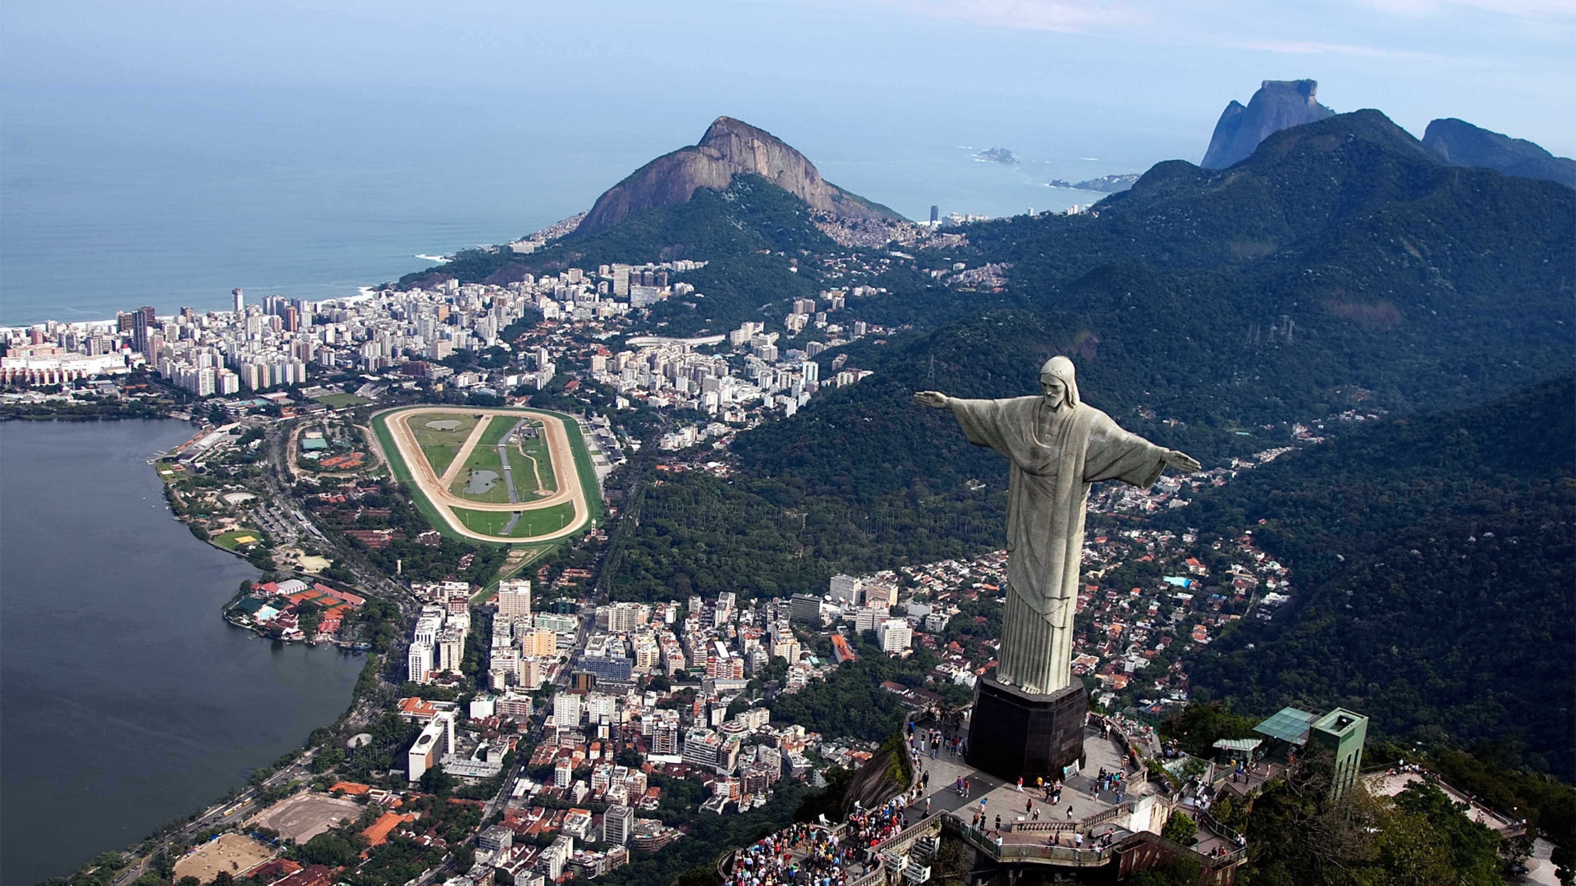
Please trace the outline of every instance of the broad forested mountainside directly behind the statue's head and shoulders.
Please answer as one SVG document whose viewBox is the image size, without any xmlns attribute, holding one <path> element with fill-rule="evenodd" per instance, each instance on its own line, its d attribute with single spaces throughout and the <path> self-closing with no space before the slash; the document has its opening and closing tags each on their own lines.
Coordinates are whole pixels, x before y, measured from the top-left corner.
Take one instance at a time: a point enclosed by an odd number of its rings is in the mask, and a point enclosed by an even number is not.
<svg viewBox="0 0 1576 886">
<path fill-rule="evenodd" d="M 741 435 L 731 482 L 646 487 L 613 586 L 788 593 L 998 547 L 1005 467 L 911 394 L 1034 393 L 1054 353 L 1092 405 L 1206 463 L 1294 421 L 1481 402 L 1568 370 L 1568 189 L 1442 167 L 1373 112 L 1288 132 L 1226 173 L 1162 164 L 1098 218 L 971 225 L 946 259 L 1013 262 L 1009 293 L 889 270 L 892 293 L 856 309 L 917 329 L 838 348 L 875 375 Z M 1220 246 L 1254 236 L 1272 248 Z M 1034 309 L 977 312 L 1001 304 Z"/>
</svg>

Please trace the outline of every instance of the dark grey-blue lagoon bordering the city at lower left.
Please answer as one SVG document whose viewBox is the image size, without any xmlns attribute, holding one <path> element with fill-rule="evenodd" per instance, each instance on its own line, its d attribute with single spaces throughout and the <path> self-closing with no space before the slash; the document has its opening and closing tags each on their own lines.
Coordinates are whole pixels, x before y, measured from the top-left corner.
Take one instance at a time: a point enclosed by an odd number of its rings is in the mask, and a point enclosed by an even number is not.
<svg viewBox="0 0 1576 886">
<path fill-rule="evenodd" d="M 366 659 L 219 616 L 246 561 L 147 459 L 177 421 L 0 424 L 0 881 L 36 883 L 246 784 L 334 720 Z"/>
</svg>

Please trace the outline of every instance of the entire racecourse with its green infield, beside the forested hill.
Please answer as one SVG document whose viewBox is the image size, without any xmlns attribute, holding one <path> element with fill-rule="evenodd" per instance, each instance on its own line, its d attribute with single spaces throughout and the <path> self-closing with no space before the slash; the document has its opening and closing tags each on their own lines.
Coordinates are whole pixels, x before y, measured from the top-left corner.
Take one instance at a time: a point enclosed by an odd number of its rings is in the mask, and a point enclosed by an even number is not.
<svg viewBox="0 0 1576 886">
<path fill-rule="evenodd" d="M 526 432 L 515 434 L 517 427 Z M 600 516 L 591 456 L 571 416 L 403 407 L 375 415 L 372 430 L 394 478 L 411 487 L 416 506 L 446 534 L 556 541 Z"/>
</svg>

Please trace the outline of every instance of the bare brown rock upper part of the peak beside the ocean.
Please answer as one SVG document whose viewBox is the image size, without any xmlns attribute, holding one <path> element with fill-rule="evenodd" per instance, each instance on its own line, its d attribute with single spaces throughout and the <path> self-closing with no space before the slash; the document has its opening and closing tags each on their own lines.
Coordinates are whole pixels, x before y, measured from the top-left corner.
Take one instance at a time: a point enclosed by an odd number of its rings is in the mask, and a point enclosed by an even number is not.
<svg viewBox="0 0 1576 886">
<path fill-rule="evenodd" d="M 687 203 L 697 188 L 723 191 L 739 173 L 760 175 L 810 207 L 840 218 L 900 218 L 826 181 L 815 164 L 771 132 L 719 117 L 698 145 L 662 154 L 597 197 L 575 235 L 600 233 L 656 207 Z"/>
</svg>

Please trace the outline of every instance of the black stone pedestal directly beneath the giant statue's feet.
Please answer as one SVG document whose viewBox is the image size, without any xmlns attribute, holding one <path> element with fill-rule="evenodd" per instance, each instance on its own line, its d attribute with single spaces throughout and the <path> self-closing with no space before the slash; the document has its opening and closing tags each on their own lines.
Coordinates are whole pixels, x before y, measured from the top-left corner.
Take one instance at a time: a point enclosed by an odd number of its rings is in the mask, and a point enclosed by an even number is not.
<svg viewBox="0 0 1576 886">
<path fill-rule="evenodd" d="M 1087 692 L 1076 679 L 1050 695 L 980 679 L 969 717 L 969 766 L 1009 782 L 1061 779 L 1065 766 L 1083 766 L 1087 709 Z"/>
</svg>

